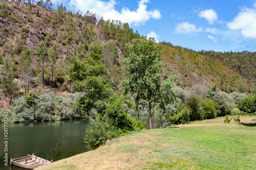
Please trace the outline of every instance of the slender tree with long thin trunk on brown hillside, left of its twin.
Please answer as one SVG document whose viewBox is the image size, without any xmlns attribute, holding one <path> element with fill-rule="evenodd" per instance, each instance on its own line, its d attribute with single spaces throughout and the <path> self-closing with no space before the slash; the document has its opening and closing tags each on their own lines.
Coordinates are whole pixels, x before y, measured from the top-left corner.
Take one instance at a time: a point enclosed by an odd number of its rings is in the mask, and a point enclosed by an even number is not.
<svg viewBox="0 0 256 170">
<path fill-rule="evenodd" d="M 47 46 L 45 42 L 41 42 L 39 47 L 36 48 L 37 52 L 35 54 L 36 61 L 39 65 L 42 66 L 42 85 L 45 85 L 45 77 L 44 77 L 44 65 L 45 62 L 48 61 L 48 53 Z"/>
</svg>

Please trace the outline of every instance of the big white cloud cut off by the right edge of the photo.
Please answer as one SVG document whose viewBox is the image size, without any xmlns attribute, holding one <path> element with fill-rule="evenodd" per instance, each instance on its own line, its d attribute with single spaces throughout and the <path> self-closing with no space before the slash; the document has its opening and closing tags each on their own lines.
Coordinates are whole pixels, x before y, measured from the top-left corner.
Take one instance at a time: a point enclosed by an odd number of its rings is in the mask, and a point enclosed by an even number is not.
<svg viewBox="0 0 256 170">
<path fill-rule="evenodd" d="M 231 22 L 227 23 L 230 30 L 240 30 L 245 38 L 256 38 L 256 3 L 253 8 L 241 8 Z"/>
</svg>

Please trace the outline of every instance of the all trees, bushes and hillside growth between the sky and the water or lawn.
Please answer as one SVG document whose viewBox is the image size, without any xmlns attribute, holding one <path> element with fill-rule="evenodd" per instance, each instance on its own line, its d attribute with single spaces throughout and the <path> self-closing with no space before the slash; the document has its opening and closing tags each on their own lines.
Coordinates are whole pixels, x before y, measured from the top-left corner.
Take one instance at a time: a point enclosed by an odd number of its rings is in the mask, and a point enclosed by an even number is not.
<svg viewBox="0 0 256 170">
<path fill-rule="evenodd" d="M 164 126 L 255 115 L 253 71 L 156 45 L 128 23 L 39 2 L 0 2 L 1 114 L 10 122 L 88 118 L 84 142 L 93 149 L 144 129 L 137 114 Z"/>
</svg>

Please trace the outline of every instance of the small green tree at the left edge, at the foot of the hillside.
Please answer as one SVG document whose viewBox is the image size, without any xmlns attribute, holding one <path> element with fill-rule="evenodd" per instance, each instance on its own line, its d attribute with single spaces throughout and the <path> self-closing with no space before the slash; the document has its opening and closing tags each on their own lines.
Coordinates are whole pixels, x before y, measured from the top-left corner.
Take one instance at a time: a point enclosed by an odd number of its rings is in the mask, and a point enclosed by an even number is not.
<svg viewBox="0 0 256 170">
<path fill-rule="evenodd" d="M 0 85 L 5 95 L 11 97 L 10 105 L 12 104 L 12 95 L 19 88 L 18 81 L 13 81 L 13 80 L 14 80 L 14 76 L 12 74 L 9 74 L 8 77 L 3 77 L 2 79 L 3 84 Z"/>
</svg>

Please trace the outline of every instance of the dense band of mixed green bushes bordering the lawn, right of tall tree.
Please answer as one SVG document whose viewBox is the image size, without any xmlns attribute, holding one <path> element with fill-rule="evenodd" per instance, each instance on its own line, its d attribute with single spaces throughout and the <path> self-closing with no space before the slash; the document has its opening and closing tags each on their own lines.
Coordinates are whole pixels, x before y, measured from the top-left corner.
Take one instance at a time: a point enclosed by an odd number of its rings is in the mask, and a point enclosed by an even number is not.
<svg viewBox="0 0 256 170">
<path fill-rule="evenodd" d="M 158 111 L 158 117 L 162 118 L 164 126 L 170 124 L 187 124 L 190 121 L 211 119 L 217 116 L 232 115 L 251 115 L 240 109 L 240 105 L 246 107 L 248 102 L 247 95 L 233 92 L 212 91 L 202 85 L 194 85 L 189 92 L 180 88 L 173 88 L 178 99 L 173 104 L 166 106 L 165 112 Z M 252 98 L 252 97 L 248 97 Z M 236 105 L 236 102 L 239 103 Z M 251 101 L 249 102 L 252 103 Z M 249 104 L 248 104 L 249 105 Z M 247 106 L 248 106 L 247 105 Z M 240 110 L 238 110 L 238 107 Z"/>
</svg>

